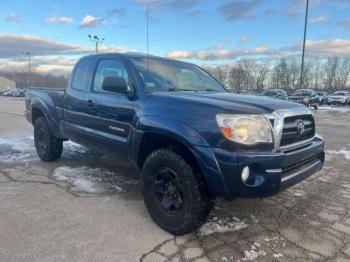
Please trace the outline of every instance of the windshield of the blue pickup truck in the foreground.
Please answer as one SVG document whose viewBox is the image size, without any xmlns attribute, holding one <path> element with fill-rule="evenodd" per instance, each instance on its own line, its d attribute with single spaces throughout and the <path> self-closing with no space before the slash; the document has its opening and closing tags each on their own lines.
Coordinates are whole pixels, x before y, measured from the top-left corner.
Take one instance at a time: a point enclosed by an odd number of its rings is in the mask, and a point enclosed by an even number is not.
<svg viewBox="0 0 350 262">
<path fill-rule="evenodd" d="M 199 67 L 156 58 L 131 58 L 147 90 L 225 91 L 207 72 Z"/>
</svg>

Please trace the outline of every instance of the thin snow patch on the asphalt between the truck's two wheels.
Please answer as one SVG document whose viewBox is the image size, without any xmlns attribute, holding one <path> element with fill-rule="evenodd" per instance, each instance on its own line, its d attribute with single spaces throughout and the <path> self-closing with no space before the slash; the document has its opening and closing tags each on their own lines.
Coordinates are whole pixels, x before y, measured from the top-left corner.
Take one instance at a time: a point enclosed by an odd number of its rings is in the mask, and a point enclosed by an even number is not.
<svg viewBox="0 0 350 262">
<path fill-rule="evenodd" d="M 95 194 L 121 192 L 124 185 L 139 183 L 138 180 L 126 179 L 116 172 L 87 166 L 61 166 L 55 169 L 52 176 L 58 181 L 71 184 L 73 192 Z"/>
</svg>

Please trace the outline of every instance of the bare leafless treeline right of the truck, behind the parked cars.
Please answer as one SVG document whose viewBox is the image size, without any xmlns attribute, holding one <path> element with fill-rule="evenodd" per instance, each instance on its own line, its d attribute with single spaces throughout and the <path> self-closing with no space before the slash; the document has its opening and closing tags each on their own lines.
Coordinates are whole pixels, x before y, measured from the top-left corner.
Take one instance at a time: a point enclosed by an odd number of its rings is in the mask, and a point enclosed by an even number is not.
<svg viewBox="0 0 350 262">
<path fill-rule="evenodd" d="M 242 58 L 232 64 L 205 67 L 228 89 L 300 88 L 301 59 L 291 56 L 279 60 Z M 301 88 L 346 90 L 349 88 L 350 58 L 306 58 Z"/>
</svg>

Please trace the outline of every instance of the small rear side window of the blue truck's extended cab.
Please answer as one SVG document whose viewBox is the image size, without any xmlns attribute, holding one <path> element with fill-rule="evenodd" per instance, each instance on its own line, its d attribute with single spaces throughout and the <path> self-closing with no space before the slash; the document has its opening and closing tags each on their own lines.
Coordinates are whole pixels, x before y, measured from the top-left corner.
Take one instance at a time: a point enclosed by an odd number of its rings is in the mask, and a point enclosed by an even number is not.
<svg viewBox="0 0 350 262">
<path fill-rule="evenodd" d="M 72 88 L 76 90 L 88 90 L 91 79 L 91 60 L 84 60 L 77 65 L 72 79 Z"/>
</svg>

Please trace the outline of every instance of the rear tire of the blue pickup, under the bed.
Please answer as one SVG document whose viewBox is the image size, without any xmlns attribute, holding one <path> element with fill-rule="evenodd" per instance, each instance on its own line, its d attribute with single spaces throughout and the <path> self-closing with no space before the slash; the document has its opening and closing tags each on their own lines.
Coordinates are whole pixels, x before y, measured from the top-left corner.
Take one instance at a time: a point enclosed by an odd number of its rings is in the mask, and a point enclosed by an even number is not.
<svg viewBox="0 0 350 262">
<path fill-rule="evenodd" d="M 62 155 L 63 141 L 52 135 L 44 117 L 34 122 L 34 143 L 39 158 L 45 162 L 56 161 Z"/>
</svg>

